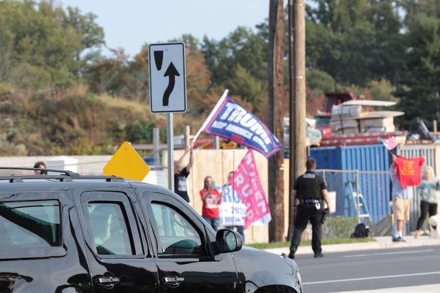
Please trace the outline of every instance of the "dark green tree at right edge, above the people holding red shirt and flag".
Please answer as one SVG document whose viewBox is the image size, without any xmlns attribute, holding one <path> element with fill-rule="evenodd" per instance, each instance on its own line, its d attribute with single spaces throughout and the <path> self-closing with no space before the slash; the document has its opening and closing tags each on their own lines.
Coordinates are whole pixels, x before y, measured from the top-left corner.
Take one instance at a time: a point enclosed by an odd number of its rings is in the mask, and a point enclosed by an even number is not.
<svg viewBox="0 0 440 293">
<path fill-rule="evenodd" d="M 407 127 L 421 117 L 430 127 L 440 118 L 440 20 L 425 13 L 407 16 L 405 63 L 395 92 L 401 98 L 398 108 L 405 112 L 400 122 Z"/>
</svg>

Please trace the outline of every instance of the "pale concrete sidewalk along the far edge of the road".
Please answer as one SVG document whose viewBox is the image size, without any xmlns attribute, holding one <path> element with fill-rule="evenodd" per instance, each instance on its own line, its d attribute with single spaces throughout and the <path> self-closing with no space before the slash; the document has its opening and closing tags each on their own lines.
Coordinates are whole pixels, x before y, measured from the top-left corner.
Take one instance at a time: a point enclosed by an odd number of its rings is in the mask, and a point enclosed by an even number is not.
<svg viewBox="0 0 440 293">
<path fill-rule="evenodd" d="M 374 237 L 376 241 L 373 242 L 361 242 L 361 243 L 347 243 L 347 244 L 330 244 L 323 245 L 323 253 L 328 252 L 344 252 L 344 251 L 357 251 L 357 250 L 369 250 L 369 249 L 385 249 L 385 248 L 407 248 L 407 247 L 421 247 L 440 245 L 440 239 L 431 239 L 429 236 L 420 236 L 418 239 L 414 238 L 414 235 L 406 235 L 404 237 L 406 242 L 393 242 L 391 236 Z M 282 248 L 268 248 L 265 251 L 281 254 L 289 254 L 288 247 Z M 298 247 L 295 255 L 299 254 L 313 254 L 311 246 Z"/>
</svg>

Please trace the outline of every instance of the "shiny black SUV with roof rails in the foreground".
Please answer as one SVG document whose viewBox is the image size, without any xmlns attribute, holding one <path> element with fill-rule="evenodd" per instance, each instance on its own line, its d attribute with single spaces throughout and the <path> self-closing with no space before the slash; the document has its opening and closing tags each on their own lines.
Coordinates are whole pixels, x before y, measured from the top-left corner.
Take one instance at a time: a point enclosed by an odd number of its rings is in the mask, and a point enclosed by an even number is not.
<svg viewBox="0 0 440 293">
<path fill-rule="evenodd" d="M 32 170 L 49 175 L 10 175 Z M 241 247 L 235 231 L 215 233 L 167 189 L 0 171 L 0 293 L 302 292 L 295 261 Z"/>
</svg>

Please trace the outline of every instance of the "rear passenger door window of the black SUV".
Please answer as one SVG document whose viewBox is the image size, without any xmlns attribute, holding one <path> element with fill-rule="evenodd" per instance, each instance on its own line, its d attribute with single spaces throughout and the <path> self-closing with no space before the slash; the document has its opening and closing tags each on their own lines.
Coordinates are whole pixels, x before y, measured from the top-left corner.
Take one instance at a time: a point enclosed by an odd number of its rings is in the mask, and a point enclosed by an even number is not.
<svg viewBox="0 0 440 293">
<path fill-rule="evenodd" d="M 89 202 L 88 211 L 98 254 L 133 254 L 127 220 L 119 204 Z"/>
</svg>

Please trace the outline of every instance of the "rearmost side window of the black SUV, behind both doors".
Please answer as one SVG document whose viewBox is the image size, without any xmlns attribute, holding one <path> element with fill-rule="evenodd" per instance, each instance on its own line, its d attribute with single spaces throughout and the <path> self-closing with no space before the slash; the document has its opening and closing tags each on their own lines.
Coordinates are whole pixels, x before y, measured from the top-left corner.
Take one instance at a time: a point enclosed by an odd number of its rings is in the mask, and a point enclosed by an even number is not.
<svg viewBox="0 0 440 293">
<path fill-rule="evenodd" d="M 60 204 L 56 200 L 0 204 L 0 248 L 61 246 Z"/>
</svg>

